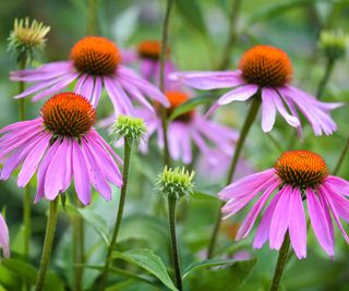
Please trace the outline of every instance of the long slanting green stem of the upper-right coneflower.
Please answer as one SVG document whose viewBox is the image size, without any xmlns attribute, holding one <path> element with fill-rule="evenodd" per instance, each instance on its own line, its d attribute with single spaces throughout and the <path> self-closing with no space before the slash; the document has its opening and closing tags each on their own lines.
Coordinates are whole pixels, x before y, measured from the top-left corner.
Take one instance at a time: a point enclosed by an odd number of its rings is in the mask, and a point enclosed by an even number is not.
<svg viewBox="0 0 349 291">
<path fill-rule="evenodd" d="M 226 185 L 231 183 L 231 180 L 234 174 L 244 141 L 248 136 L 248 133 L 249 133 L 252 124 L 253 124 L 253 121 L 255 120 L 255 118 L 257 116 L 260 106 L 261 106 L 261 93 L 258 92 L 255 96 L 252 97 L 252 105 L 250 107 L 250 111 L 246 116 L 246 119 L 245 119 L 243 126 L 242 126 L 242 130 L 240 132 L 240 137 L 237 143 L 233 157 L 231 159 L 230 168 L 228 170 Z M 224 203 L 220 204 L 219 209 L 218 209 L 216 222 L 215 222 L 214 230 L 213 230 L 210 241 L 208 244 L 207 258 L 210 258 L 213 256 L 214 251 L 215 251 L 215 245 L 216 245 L 217 235 L 218 235 L 218 231 L 219 231 L 219 227 L 220 227 L 220 220 L 221 220 L 220 208 L 222 205 L 224 205 Z"/>
</svg>

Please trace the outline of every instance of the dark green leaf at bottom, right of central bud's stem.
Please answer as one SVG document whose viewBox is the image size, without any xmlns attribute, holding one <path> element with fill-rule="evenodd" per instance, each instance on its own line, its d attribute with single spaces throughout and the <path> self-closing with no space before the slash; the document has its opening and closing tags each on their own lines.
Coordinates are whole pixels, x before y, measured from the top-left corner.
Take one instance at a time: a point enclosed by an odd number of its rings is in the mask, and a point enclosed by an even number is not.
<svg viewBox="0 0 349 291">
<path fill-rule="evenodd" d="M 256 259 L 224 260 L 196 263 L 186 268 L 185 278 L 190 281 L 192 290 L 227 291 L 234 290 L 241 284 L 253 269 Z M 221 266 L 208 269 L 209 266 Z"/>
</svg>

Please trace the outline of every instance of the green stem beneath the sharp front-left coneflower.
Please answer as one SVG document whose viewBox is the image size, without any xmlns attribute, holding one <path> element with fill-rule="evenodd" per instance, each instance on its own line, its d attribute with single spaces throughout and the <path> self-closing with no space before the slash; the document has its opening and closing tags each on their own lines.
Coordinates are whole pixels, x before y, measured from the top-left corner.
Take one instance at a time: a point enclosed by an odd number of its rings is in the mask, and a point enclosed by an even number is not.
<svg viewBox="0 0 349 291">
<path fill-rule="evenodd" d="M 46 225 L 46 233 L 45 233 L 45 242 L 44 242 L 41 262 L 40 262 L 40 267 L 39 267 L 39 271 L 37 275 L 35 291 L 44 290 L 46 271 L 48 268 L 48 264 L 49 264 L 51 251 L 52 251 L 53 237 L 55 237 L 56 225 L 57 225 L 57 217 L 58 217 L 58 198 L 50 202 L 50 209 L 49 209 L 47 225 Z"/>
</svg>

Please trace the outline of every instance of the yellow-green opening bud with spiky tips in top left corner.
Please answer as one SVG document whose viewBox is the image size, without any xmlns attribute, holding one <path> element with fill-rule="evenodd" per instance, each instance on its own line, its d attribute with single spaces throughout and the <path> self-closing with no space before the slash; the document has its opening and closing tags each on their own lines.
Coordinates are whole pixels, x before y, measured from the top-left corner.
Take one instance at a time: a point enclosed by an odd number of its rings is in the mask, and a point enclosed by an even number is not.
<svg viewBox="0 0 349 291">
<path fill-rule="evenodd" d="M 50 26 L 28 17 L 14 20 L 14 27 L 9 37 L 9 50 L 17 56 L 17 60 L 23 58 L 34 59 L 35 54 L 43 50 L 46 44 L 46 35 Z"/>
</svg>

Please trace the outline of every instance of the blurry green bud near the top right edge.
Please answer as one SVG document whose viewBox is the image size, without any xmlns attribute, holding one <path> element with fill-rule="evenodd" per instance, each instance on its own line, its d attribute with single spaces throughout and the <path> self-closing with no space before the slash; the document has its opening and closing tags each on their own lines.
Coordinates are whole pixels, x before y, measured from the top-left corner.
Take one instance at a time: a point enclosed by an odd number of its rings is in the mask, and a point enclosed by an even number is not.
<svg viewBox="0 0 349 291">
<path fill-rule="evenodd" d="M 348 39 L 348 35 L 341 31 L 323 31 L 320 47 L 326 58 L 336 61 L 346 56 Z"/>
</svg>

